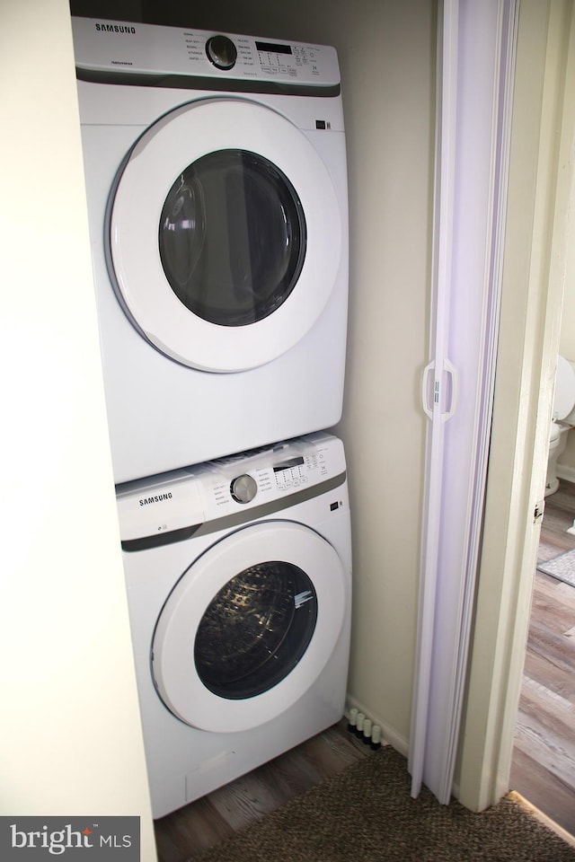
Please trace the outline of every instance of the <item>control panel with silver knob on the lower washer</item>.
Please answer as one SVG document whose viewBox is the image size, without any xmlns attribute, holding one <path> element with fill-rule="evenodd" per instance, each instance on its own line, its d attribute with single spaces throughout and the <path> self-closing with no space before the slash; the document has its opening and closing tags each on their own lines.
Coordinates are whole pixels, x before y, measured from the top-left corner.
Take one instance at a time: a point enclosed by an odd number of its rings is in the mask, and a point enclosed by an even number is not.
<svg viewBox="0 0 575 862">
<path fill-rule="evenodd" d="M 215 532 L 317 497 L 345 476 L 341 440 L 319 432 L 127 482 L 116 489 L 121 539 Z"/>
</svg>

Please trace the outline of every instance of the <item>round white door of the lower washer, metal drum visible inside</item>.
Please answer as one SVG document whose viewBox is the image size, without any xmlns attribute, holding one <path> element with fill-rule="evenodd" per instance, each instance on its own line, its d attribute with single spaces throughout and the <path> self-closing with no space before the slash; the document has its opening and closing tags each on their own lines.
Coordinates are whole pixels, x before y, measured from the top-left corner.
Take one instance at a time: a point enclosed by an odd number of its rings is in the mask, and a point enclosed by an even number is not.
<svg viewBox="0 0 575 862">
<path fill-rule="evenodd" d="M 272 521 L 229 534 L 164 604 L 152 647 L 160 697 L 203 730 L 270 721 L 322 673 L 346 594 L 341 559 L 308 527 Z"/>
</svg>

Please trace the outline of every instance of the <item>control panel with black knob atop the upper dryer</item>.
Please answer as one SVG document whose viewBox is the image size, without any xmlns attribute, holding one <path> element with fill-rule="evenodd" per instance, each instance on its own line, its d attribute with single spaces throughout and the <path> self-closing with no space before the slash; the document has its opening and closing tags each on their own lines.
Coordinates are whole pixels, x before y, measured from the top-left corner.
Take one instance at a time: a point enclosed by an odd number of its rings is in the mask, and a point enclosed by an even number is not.
<svg viewBox="0 0 575 862">
<path fill-rule="evenodd" d="M 121 75 L 190 75 L 332 87 L 335 48 L 234 33 L 72 18 L 78 69 Z"/>
</svg>

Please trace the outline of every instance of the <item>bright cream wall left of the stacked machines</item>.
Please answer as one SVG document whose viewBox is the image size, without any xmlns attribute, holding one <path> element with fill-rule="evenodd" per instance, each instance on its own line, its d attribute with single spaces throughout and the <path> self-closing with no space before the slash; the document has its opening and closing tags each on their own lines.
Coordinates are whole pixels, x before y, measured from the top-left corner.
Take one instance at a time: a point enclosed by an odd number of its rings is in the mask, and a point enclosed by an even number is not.
<svg viewBox="0 0 575 862">
<path fill-rule="evenodd" d="M 0 80 L 0 814 L 139 815 L 152 862 L 66 0 L 4 0 Z"/>
</svg>

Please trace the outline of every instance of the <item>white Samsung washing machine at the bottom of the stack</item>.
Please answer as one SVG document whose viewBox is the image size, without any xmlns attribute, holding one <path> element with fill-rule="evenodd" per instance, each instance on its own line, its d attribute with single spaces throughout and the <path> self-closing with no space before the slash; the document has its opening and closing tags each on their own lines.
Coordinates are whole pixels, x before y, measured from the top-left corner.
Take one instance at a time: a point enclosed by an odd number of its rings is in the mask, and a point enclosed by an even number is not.
<svg viewBox="0 0 575 862">
<path fill-rule="evenodd" d="M 351 550 L 341 441 L 118 488 L 155 818 L 337 722 Z"/>
</svg>

